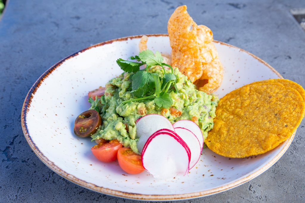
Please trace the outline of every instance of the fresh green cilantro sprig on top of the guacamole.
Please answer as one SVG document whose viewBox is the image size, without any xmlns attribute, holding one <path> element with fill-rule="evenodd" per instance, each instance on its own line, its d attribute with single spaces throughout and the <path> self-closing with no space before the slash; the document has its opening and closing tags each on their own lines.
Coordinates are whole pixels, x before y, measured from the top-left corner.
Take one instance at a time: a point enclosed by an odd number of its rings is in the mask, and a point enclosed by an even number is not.
<svg viewBox="0 0 305 203">
<path fill-rule="evenodd" d="M 146 49 L 136 56 L 129 57 L 130 60 L 117 59 L 117 64 L 122 70 L 127 73 L 135 73 L 131 77 L 131 92 L 138 98 L 126 100 L 128 102 L 154 100 L 158 107 L 168 109 L 173 100 L 169 94 L 170 87 L 177 91 L 177 77 L 174 74 L 173 68 L 163 63 L 163 57 L 160 52 L 154 54 L 151 50 Z M 140 67 L 146 65 L 146 68 L 140 70 Z M 157 73 L 149 73 L 148 69 L 152 66 L 161 66 L 164 71 L 163 78 L 160 78 Z M 166 73 L 164 66 L 171 69 L 171 73 Z M 144 95 L 147 95 L 145 96 Z"/>
</svg>

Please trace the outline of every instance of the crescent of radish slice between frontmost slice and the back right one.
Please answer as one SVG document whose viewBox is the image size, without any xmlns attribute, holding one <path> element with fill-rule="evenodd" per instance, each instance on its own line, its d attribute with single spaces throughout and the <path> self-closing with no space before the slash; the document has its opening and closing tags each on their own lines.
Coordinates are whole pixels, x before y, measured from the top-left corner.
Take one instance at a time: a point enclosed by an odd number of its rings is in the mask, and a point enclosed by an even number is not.
<svg viewBox="0 0 305 203">
<path fill-rule="evenodd" d="M 198 162 L 201 155 L 201 145 L 194 133 L 185 128 L 175 128 L 176 133 L 182 138 L 188 145 L 191 151 L 190 169 L 192 169 Z"/>
</svg>

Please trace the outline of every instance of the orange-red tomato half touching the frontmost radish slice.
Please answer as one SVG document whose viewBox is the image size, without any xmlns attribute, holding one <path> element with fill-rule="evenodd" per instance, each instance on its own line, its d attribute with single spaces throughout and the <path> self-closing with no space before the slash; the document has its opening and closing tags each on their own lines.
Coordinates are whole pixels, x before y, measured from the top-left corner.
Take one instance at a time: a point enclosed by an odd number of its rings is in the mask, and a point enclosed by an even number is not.
<svg viewBox="0 0 305 203">
<path fill-rule="evenodd" d="M 136 154 L 129 147 L 120 148 L 117 153 L 117 160 L 120 167 L 130 174 L 138 174 L 144 171 L 141 155 Z"/>
</svg>

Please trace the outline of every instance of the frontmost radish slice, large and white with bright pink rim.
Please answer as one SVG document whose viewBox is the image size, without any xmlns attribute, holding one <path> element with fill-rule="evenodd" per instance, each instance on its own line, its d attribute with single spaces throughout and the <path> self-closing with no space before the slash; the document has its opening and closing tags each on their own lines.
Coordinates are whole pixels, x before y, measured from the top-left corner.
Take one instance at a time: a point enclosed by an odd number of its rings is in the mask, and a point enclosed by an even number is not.
<svg viewBox="0 0 305 203">
<path fill-rule="evenodd" d="M 142 165 L 155 178 L 186 175 L 191 152 L 177 134 L 157 132 L 149 137 L 142 151 Z"/>
</svg>

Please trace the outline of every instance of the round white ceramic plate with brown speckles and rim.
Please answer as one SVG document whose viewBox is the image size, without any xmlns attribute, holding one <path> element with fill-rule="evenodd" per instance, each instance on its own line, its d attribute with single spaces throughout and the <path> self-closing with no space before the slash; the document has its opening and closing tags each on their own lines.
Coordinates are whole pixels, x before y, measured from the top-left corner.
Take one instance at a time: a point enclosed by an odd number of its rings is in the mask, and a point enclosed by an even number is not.
<svg viewBox="0 0 305 203">
<path fill-rule="evenodd" d="M 76 116 L 89 108 L 87 93 L 104 86 L 121 69 L 117 58 L 138 53 L 141 36 L 115 39 L 91 46 L 48 69 L 25 99 L 21 123 L 32 150 L 60 176 L 88 189 L 142 200 L 178 200 L 226 191 L 260 175 L 287 150 L 294 135 L 263 155 L 225 158 L 203 149 L 188 176 L 156 180 L 149 173 L 124 173 L 117 162 L 102 163 L 91 154 L 90 138 L 73 133 Z M 253 81 L 282 78 L 270 65 L 237 47 L 215 41 L 224 65 L 224 80 L 215 92 L 228 92 Z M 149 35 L 148 47 L 170 53 L 167 35 Z"/>
</svg>

